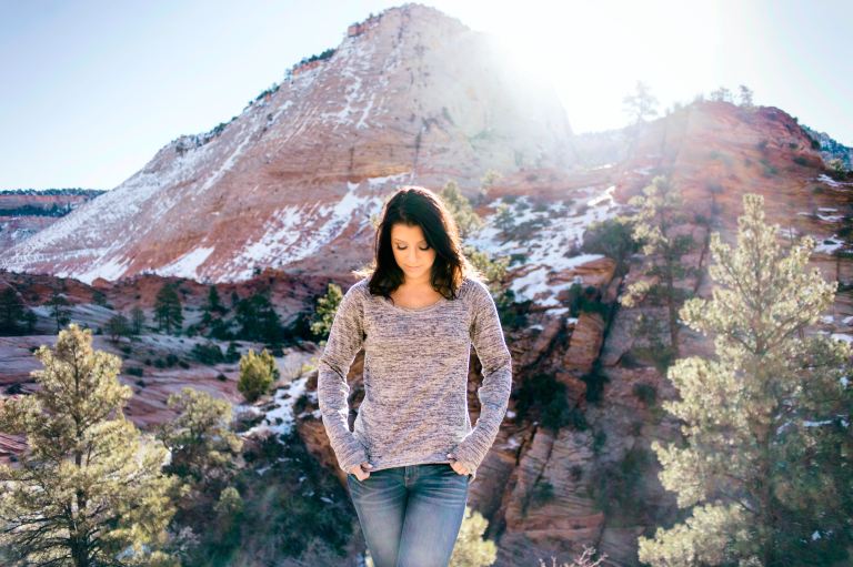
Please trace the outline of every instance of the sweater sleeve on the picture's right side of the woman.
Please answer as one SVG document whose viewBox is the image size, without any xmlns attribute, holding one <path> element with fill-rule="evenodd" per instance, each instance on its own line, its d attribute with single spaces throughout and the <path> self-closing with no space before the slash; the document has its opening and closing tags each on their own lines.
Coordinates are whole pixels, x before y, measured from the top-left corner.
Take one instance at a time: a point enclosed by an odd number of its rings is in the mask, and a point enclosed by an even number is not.
<svg viewBox="0 0 853 567">
<path fill-rule="evenodd" d="M 512 391 L 512 355 L 504 342 L 494 300 L 480 282 L 474 282 L 471 308 L 471 341 L 483 367 L 483 383 L 476 391 L 480 416 L 453 453 L 475 470 L 492 447 L 506 414 Z"/>
</svg>

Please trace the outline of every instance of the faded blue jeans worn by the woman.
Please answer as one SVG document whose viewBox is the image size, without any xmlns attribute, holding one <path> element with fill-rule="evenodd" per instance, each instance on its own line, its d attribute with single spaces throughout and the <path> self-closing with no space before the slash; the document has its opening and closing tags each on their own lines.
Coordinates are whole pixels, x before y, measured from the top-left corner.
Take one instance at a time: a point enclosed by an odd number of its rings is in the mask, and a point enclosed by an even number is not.
<svg viewBox="0 0 853 567">
<path fill-rule="evenodd" d="M 347 484 L 374 567 L 446 567 L 471 475 L 448 463 L 383 468 Z"/>
</svg>

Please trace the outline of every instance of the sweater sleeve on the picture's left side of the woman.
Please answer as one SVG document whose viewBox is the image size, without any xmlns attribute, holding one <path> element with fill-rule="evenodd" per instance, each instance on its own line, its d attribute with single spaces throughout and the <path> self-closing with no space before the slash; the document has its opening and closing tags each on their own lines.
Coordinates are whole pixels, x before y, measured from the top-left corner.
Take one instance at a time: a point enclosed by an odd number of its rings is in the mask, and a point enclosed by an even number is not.
<svg viewBox="0 0 853 567">
<path fill-rule="evenodd" d="M 347 374 L 362 347 L 362 303 L 359 290 L 351 286 L 334 314 L 329 340 L 318 363 L 317 399 L 323 426 L 338 458 L 347 473 L 368 460 L 364 446 L 350 432 Z"/>
</svg>

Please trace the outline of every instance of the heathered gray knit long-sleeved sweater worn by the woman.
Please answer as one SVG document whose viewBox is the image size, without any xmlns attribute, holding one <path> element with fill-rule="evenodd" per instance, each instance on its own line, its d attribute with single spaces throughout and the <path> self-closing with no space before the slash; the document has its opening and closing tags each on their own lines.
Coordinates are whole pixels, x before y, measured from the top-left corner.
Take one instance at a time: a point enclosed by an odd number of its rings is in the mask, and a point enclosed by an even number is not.
<svg viewBox="0 0 853 567">
<path fill-rule="evenodd" d="M 483 367 L 473 428 L 472 343 Z M 350 432 L 347 375 L 361 348 L 365 392 Z M 335 313 L 317 386 L 323 426 L 343 470 L 362 462 L 372 470 L 450 463 L 453 453 L 472 480 L 498 435 L 511 388 L 512 357 L 498 310 L 489 288 L 470 277 L 456 300 L 420 308 L 371 295 L 367 279 L 353 284 Z"/>
</svg>

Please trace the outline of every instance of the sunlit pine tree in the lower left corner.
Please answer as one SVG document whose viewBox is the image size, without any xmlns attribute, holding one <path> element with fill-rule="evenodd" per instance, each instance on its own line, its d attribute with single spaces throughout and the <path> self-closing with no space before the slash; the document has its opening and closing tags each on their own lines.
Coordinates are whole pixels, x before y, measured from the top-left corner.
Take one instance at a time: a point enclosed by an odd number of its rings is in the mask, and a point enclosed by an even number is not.
<svg viewBox="0 0 853 567">
<path fill-rule="evenodd" d="M 173 565 L 160 548 L 174 514 L 167 449 L 124 418 L 121 360 L 71 324 L 33 371 L 40 388 L 0 406 L 0 431 L 26 435 L 19 465 L 0 465 L 0 548 L 13 566 Z"/>
</svg>

